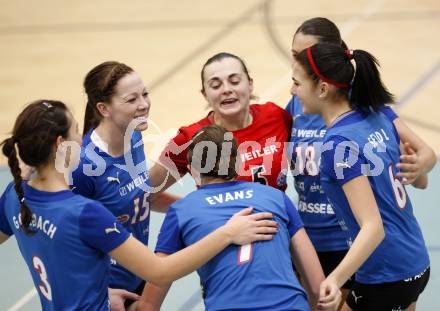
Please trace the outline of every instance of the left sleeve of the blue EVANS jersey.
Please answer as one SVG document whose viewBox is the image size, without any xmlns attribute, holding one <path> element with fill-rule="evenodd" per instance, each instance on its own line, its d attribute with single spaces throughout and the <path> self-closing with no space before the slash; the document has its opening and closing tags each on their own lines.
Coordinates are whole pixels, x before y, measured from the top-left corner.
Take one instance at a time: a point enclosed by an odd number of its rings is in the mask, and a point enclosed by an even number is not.
<svg viewBox="0 0 440 311">
<path fill-rule="evenodd" d="M 154 251 L 156 253 L 173 254 L 182 248 L 185 248 L 185 245 L 180 234 L 179 221 L 176 210 L 171 206 L 160 228 Z"/>
</svg>

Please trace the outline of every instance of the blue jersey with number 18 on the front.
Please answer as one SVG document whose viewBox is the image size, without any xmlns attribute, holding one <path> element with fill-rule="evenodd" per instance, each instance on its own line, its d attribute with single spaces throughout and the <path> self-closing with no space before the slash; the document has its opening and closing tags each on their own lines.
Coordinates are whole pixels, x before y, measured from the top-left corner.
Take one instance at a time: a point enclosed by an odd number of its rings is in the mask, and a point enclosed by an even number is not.
<svg viewBox="0 0 440 311">
<path fill-rule="evenodd" d="M 321 146 L 327 131 L 324 120 L 319 115 L 304 114 L 296 96 L 286 110 L 294 118 L 291 168 L 299 199 L 298 211 L 307 234 L 318 252 L 348 249 L 346 226 L 336 217 L 320 182 Z"/>
</svg>

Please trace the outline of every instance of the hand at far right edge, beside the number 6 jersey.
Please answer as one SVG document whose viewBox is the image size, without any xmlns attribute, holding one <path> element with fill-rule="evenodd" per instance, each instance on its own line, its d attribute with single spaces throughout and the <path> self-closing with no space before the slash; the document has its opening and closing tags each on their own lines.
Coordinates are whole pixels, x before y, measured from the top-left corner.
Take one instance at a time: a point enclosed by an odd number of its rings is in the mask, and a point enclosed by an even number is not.
<svg viewBox="0 0 440 311">
<path fill-rule="evenodd" d="M 404 185 L 412 184 L 422 173 L 420 158 L 409 143 L 403 144 L 400 162 L 396 167 L 400 170 L 397 174 Z"/>
</svg>

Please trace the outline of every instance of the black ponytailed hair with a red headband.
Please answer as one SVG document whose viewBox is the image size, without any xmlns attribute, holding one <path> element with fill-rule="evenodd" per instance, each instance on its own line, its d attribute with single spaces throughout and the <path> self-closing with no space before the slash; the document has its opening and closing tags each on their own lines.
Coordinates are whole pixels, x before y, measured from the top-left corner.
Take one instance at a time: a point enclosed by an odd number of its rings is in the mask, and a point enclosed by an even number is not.
<svg viewBox="0 0 440 311">
<path fill-rule="evenodd" d="M 394 103 L 393 94 L 380 78 L 377 60 L 368 52 L 351 52 L 340 45 L 318 43 L 301 51 L 295 59 L 316 83 L 321 80 L 336 86 L 354 110 L 369 113 L 371 109 Z M 356 62 L 356 71 L 352 59 Z"/>
</svg>

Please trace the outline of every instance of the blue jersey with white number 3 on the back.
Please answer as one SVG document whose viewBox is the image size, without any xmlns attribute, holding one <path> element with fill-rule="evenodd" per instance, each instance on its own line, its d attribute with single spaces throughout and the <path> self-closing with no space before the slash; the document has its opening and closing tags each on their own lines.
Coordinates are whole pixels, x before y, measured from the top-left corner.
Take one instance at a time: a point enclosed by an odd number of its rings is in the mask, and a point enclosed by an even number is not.
<svg viewBox="0 0 440 311">
<path fill-rule="evenodd" d="M 110 310 L 112 251 L 129 237 L 101 204 L 65 190 L 45 192 L 23 183 L 33 214 L 28 236 L 12 184 L 0 199 L 0 231 L 15 235 L 43 310 Z"/>
</svg>

